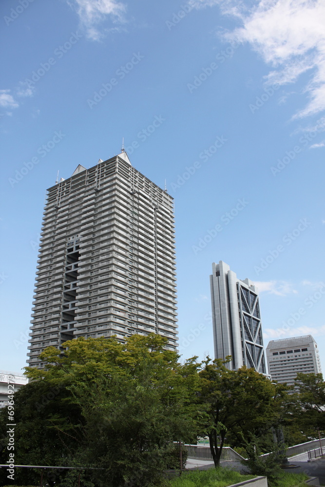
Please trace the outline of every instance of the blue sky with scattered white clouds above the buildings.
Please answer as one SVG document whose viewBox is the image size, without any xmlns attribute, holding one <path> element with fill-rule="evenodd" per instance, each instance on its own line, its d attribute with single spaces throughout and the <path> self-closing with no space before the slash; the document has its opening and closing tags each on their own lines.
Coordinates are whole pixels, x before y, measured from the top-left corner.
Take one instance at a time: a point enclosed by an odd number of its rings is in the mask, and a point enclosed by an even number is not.
<svg viewBox="0 0 325 487">
<path fill-rule="evenodd" d="M 325 367 L 324 19 L 322 0 L 2 0 L 0 369 L 25 366 L 46 188 L 123 137 L 175 198 L 183 357 L 213 355 L 223 260 L 258 282 L 265 346 L 311 334 Z"/>
</svg>

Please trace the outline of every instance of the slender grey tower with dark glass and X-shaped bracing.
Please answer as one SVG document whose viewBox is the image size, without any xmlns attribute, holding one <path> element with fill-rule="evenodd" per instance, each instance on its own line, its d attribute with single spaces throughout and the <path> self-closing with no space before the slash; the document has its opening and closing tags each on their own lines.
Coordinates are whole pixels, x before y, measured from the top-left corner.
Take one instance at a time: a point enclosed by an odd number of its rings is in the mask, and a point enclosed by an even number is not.
<svg viewBox="0 0 325 487">
<path fill-rule="evenodd" d="M 228 367 L 243 365 L 267 375 L 258 290 L 240 281 L 229 265 L 212 263 L 210 276 L 215 358 L 232 359 Z"/>
</svg>

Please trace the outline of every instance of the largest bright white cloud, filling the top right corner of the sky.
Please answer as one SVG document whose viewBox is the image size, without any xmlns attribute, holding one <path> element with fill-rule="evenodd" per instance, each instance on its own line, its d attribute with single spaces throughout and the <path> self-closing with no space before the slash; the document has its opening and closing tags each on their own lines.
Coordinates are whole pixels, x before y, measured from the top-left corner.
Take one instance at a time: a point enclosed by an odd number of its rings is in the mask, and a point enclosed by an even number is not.
<svg viewBox="0 0 325 487">
<path fill-rule="evenodd" d="M 309 101 L 294 115 L 303 118 L 325 110 L 324 0 L 192 0 L 196 8 L 220 5 L 223 14 L 242 22 L 225 37 L 249 42 L 274 69 L 267 83 L 294 83 L 310 71 L 305 87 Z"/>
</svg>

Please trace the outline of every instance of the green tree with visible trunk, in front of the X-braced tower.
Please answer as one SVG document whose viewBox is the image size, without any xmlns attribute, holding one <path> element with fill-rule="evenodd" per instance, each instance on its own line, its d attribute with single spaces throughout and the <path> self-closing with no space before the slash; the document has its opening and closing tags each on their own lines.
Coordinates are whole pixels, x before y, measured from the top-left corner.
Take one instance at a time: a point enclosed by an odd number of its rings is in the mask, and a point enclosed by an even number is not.
<svg viewBox="0 0 325 487">
<path fill-rule="evenodd" d="M 205 432 L 216 467 L 226 437 L 231 446 L 245 446 L 278 424 L 286 394 L 285 387 L 254 369 L 229 370 L 228 362 L 229 357 L 213 361 L 207 357 L 199 373 L 201 400 L 209 412 Z"/>
</svg>

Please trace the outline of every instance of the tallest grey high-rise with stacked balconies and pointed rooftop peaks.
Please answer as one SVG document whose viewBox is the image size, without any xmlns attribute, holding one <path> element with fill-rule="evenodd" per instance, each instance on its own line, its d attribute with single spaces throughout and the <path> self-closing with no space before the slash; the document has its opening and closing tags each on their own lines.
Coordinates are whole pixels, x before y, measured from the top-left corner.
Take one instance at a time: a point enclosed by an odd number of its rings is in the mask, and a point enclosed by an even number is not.
<svg viewBox="0 0 325 487">
<path fill-rule="evenodd" d="M 48 189 L 29 365 L 77 337 L 151 332 L 177 347 L 173 198 L 122 152 Z"/>
</svg>

